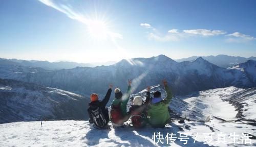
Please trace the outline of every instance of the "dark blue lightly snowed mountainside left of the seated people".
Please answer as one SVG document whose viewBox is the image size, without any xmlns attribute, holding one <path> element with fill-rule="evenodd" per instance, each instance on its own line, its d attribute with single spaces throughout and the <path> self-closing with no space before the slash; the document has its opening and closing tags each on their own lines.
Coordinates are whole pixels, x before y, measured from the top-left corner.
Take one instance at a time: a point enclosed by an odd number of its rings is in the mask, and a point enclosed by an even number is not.
<svg viewBox="0 0 256 147">
<path fill-rule="evenodd" d="M 86 120 L 89 100 L 45 86 L 0 79 L 0 124 L 40 119 Z M 1 145 L 0 145 L 1 146 Z"/>
</svg>

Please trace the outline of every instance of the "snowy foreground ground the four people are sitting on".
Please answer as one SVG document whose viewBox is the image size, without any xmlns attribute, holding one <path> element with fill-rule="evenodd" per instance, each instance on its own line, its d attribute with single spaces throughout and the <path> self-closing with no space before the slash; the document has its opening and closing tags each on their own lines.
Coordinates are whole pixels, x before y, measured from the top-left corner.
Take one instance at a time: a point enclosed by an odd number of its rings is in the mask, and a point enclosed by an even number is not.
<svg viewBox="0 0 256 147">
<path fill-rule="evenodd" d="M 215 132 L 212 132 L 209 127 L 214 127 Z M 153 129 L 147 126 L 140 130 L 135 130 L 131 126 L 124 128 L 110 126 L 109 129 L 98 130 L 88 121 L 75 120 L 43 121 L 42 127 L 40 121 L 12 122 L 0 125 L 0 146 L 169 146 L 165 139 L 162 140 L 164 144 L 154 142 L 153 135 L 157 132 L 160 132 L 163 138 L 167 133 L 174 133 L 177 137 L 179 133 L 185 133 L 189 137 L 188 144 L 183 144 L 184 142 L 176 138 L 172 146 L 234 146 L 222 143 L 217 145 L 216 135 L 220 132 L 228 135 L 236 132 L 242 136 L 241 133 L 252 132 L 251 129 L 250 125 L 242 122 L 204 124 L 185 121 L 185 124 L 179 124 L 174 121 L 164 129 Z M 204 144 L 203 133 L 214 133 L 212 144 Z M 230 142 L 228 135 L 226 135 L 226 141 Z M 193 143 L 195 139 L 196 142 Z M 237 142 L 240 142 L 239 146 L 256 145 L 255 140 L 252 140 L 252 144 L 241 144 L 242 138 L 239 138 Z"/>
</svg>

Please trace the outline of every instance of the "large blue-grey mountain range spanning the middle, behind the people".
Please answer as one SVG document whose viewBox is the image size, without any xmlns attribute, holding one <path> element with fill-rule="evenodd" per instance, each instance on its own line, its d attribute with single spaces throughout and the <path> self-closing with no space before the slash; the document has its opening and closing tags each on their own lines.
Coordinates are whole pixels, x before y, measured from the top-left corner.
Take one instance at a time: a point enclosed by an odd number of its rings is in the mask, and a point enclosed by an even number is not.
<svg viewBox="0 0 256 147">
<path fill-rule="evenodd" d="M 256 61 L 248 62 L 255 63 Z M 179 63 L 160 55 L 151 58 L 122 60 L 110 66 L 19 73 L 22 76 L 18 74 L 15 76 L 15 73 L 8 70 L 4 75 L 0 75 L 0 78 L 22 80 L 84 95 L 89 95 L 92 92 L 104 94 L 105 87 L 109 83 L 126 89 L 127 79 L 134 79 L 133 87 L 135 87 L 135 92 L 138 92 L 146 85 L 156 85 L 165 78 L 169 81 L 175 94 L 185 95 L 194 91 L 228 86 L 253 87 L 256 83 L 251 77 L 255 75 L 256 67 L 251 65 L 248 64 L 244 67 L 245 70 L 226 69 L 211 64 L 203 58 Z M 252 72 L 245 72 L 249 68 Z M 1 70 L 3 69 L 0 68 Z"/>
</svg>

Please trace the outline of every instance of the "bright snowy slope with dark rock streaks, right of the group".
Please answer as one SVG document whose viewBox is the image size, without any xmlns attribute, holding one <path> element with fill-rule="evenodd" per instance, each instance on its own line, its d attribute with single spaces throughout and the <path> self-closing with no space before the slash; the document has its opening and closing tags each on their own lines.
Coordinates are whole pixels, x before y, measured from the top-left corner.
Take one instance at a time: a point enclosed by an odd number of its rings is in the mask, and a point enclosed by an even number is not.
<svg viewBox="0 0 256 147">
<path fill-rule="evenodd" d="M 181 113 L 184 118 L 206 120 L 215 116 L 224 120 L 254 119 L 256 122 L 256 88 L 231 86 L 199 91 L 178 98 L 187 103 L 186 108 L 189 111 Z M 195 112 L 200 112 L 200 115 Z"/>
</svg>

